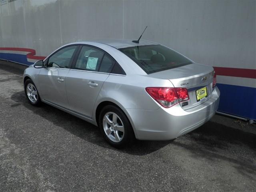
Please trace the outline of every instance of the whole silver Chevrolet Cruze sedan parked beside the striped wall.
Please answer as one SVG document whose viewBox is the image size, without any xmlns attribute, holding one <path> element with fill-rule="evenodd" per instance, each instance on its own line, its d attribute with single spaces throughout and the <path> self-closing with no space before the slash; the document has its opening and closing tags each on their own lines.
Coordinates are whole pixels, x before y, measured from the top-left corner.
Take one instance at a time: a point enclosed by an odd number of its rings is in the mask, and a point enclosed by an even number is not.
<svg viewBox="0 0 256 192">
<path fill-rule="evenodd" d="M 116 147 L 186 134 L 214 115 L 220 97 L 212 67 L 142 40 L 67 44 L 23 78 L 32 105 L 82 118 Z"/>
</svg>

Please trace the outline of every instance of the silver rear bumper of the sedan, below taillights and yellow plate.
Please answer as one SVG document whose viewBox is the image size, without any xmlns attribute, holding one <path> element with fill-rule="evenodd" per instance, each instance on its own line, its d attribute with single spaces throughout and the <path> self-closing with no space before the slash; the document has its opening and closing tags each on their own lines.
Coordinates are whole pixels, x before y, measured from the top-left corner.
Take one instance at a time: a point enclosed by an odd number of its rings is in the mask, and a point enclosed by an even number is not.
<svg viewBox="0 0 256 192">
<path fill-rule="evenodd" d="M 171 140 L 210 120 L 218 109 L 220 91 L 216 87 L 206 102 L 183 110 L 180 105 L 158 110 L 128 109 L 134 133 L 139 140 Z"/>
</svg>

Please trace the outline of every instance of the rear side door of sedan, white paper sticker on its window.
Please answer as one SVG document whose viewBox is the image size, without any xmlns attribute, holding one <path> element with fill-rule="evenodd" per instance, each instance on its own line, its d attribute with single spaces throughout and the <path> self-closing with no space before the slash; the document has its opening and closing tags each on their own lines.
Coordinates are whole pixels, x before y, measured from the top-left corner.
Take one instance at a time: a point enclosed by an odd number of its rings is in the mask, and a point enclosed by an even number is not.
<svg viewBox="0 0 256 192">
<path fill-rule="evenodd" d="M 93 46 L 82 46 L 72 69 L 66 77 L 70 110 L 92 117 L 94 104 L 115 61 Z"/>
</svg>

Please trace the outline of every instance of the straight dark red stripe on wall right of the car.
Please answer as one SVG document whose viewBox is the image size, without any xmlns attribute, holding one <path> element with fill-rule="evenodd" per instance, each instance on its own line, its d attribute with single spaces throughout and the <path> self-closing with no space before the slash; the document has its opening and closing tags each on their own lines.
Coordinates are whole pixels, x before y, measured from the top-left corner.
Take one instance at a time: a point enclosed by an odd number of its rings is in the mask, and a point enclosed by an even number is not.
<svg viewBox="0 0 256 192">
<path fill-rule="evenodd" d="M 256 79 L 256 69 L 213 67 L 217 75 Z"/>
</svg>

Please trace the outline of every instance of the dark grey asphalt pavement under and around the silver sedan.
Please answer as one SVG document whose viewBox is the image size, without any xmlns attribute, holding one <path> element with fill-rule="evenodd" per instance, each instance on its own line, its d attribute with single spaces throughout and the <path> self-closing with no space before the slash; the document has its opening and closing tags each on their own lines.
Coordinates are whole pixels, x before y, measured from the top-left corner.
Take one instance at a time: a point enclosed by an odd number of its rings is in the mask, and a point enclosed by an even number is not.
<svg viewBox="0 0 256 192">
<path fill-rule="evenodd" d="M 0 192 L 255 192 L 256 125 L 215 115 L 171 141 L 118 150 L 100 130 L 25 98 L 24 66 L 0 61 Z"/>
</svg>

